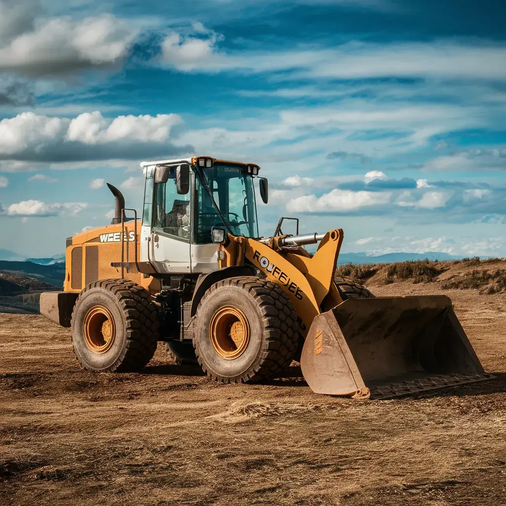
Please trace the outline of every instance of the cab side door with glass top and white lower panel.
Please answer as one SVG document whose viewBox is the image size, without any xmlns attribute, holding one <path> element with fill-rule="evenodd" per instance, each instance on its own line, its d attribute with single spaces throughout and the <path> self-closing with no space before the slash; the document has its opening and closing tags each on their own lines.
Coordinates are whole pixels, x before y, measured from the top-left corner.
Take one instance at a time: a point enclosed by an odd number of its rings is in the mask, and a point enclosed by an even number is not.
<svg viewBox="0 0 506 506">
<path fill-rule="evenodd" d="M 153 225 L 149 241 L 150 260 L 158 272 L 191 272 L 190 224 L 191 192 L 179 195 L 176 167 L 171 167 L 166 183 L 156 183 Z"/>
</svg>

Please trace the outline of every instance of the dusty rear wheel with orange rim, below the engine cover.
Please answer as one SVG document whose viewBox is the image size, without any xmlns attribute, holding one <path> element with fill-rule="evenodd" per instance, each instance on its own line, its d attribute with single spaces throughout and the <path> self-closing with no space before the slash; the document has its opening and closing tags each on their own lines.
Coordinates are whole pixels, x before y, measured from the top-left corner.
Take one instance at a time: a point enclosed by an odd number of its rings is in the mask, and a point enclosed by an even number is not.
<svg viewBox="0 0 506 506">
<path fill-rule="evenodd" d="M 126 279 L 84 288 L 72 312 L 72 345 L 79 365 L 97 372 L 137 371 L 153 358 L 158 315 L 147 290 Z"/>
</svg>

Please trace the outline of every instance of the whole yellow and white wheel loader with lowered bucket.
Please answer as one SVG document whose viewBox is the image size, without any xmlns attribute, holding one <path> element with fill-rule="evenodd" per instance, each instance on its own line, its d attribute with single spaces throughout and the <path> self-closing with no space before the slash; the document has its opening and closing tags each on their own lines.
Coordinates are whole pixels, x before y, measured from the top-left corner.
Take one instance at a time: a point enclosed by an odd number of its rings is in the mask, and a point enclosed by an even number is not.
<svg viewBox="0 0 506 506">
<path fill-rule="evenodd" d="M 197 156 L 141 164 L 142 217 L 112 185 L 110 225 L 69 237 L 63 291 L 80 366 L 146 366 L 159 341 L 212 379 L 265 382 L 300 361 L 316 393 L 385 399 L 489 377 L 445 296 L 375 298 L 335 279 L 343 230 L 260 236 L 260 167 Z M 127 218 L 127 214 L 130 218 Z M 293 220 L 293 219 L 292 219 Z M 317 248 L 310 254 L 305 246 Z"/>
</svg>

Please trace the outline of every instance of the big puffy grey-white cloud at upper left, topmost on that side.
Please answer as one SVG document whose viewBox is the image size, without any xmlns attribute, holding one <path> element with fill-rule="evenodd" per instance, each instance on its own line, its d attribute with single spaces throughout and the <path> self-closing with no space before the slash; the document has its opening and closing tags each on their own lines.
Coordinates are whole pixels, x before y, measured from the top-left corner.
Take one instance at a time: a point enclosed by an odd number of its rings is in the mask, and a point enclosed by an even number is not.
<svg viewBox="0 0 506 506">
<path fill-rule="evenodd" d="M 128 55 L 138 34 L 112 14 L 80 21 L 32 19 L 31 24 L 32 29 L 4 38 L 0 71 L 33 76 L 111 66 Z"/>
</svg>

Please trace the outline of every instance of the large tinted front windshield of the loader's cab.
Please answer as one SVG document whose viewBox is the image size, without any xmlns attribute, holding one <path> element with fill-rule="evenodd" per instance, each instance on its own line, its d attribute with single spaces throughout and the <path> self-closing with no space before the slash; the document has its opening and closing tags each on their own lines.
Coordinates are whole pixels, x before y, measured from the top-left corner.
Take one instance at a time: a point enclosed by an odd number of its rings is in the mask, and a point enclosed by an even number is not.
<svg viewBox="0 0 506 506">
<path fill-rule="evenodd" d="M 213 198 L 234 235 L 258 237 L 255 191 L 251 176 L 243 168 L 231 164 L 215 164 L 202 170 Z M 220 215 L 204 185 L 196 178 L 196 227 L 195 242 L 213 242 L 211 229 L 223 227 Z"/>
</svg>

